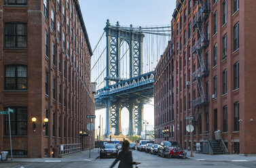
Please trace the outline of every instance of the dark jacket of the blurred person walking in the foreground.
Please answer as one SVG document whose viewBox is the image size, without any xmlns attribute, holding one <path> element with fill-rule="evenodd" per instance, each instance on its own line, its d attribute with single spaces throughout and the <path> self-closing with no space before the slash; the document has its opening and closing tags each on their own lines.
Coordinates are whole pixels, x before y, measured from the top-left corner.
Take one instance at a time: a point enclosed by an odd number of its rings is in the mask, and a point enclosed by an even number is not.
<svg viewBox="0 0 256 168">
<path fill-rule="evenodd" d="M 132 165 L 135 165 L 135 162 L 132 162 L 132 151 L 121 151 L 119 152 L 117 159 L 112 163 L 111 168 L 120 161 L 118 168 L 132 168 Z"/>
</svg>

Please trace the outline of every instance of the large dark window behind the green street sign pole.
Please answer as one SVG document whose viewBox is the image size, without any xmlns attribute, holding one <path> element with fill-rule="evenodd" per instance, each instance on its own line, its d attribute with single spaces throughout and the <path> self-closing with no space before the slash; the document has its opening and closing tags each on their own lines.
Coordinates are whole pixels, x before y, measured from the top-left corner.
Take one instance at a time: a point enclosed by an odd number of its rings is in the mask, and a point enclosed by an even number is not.
<svg viewBox="0 0 256 168">
<path fill-rule="evenodd" d="M 6 107 L 12 108 L 14 112 L 10 112 L 10 124 L 12 127 L 12 135 L 27 135 L 27 108 L 26 107 Z M 10 135 L 8 115 L 5 115 L 5 135 Z"/>
</svg>

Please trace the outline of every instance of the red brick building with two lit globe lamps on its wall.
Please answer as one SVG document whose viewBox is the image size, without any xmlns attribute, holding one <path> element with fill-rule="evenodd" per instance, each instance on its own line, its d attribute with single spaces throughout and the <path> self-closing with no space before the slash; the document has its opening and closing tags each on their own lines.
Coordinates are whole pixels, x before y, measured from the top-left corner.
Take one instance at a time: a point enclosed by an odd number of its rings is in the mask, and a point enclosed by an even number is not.
<svg viewBox="0 0 256 168">
<path fill-rule="evenodd" d="M 88 148 L 79 132 L 88 132 L 86 115 L 94 114 L 92 49 L 79 1 L 0 4 L 0 110 L 14 109 L 14 156 L 56 157 L 60 144 Z M 7 119 L 0 116 L 0 151 L 10 151 Z"/>
</svg>

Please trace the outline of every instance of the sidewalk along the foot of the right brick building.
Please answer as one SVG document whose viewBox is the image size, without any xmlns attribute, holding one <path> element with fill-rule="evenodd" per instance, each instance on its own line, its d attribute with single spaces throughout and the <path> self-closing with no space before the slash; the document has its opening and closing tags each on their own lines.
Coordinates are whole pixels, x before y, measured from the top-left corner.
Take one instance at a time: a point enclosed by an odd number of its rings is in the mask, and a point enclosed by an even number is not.
<svg viewBox="0 0 256 168">
<path fill-rule="evenodd" d="M 198 154 L 193 152 L 193 156 L 190 156 L 190 150 L 187 151 L 187 159 L 194 161 L 223 161 L 223 162 L 244 162 L 244 161 L 256 161 L 256 155 L 244 156 L 244 154 Z"/>
</svg>

